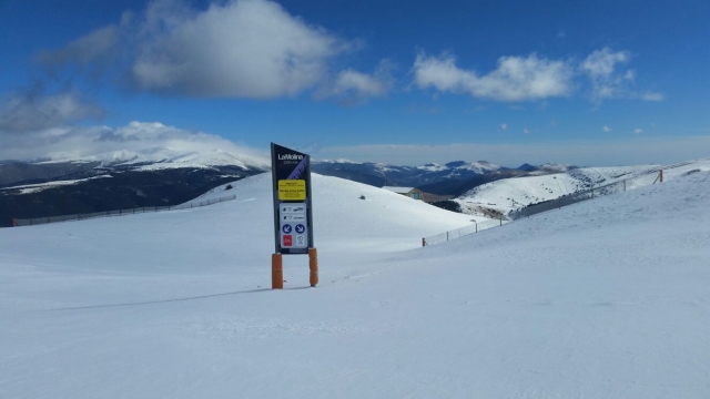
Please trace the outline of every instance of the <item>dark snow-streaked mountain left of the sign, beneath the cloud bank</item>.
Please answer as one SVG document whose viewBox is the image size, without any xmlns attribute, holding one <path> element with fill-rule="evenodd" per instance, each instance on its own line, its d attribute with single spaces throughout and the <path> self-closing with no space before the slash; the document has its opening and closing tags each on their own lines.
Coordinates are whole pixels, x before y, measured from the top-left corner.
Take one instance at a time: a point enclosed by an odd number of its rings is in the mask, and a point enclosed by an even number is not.
<svg viewBox="0 0 710 399">
<path fill-rule="evenodd" d="M 224 154 L 221 154 L 224 155 Z M 169 206 L 263 173 L 239 160 L 64 160 L 0 163 L 0 227 L 12 218 Z"/>
</svg>

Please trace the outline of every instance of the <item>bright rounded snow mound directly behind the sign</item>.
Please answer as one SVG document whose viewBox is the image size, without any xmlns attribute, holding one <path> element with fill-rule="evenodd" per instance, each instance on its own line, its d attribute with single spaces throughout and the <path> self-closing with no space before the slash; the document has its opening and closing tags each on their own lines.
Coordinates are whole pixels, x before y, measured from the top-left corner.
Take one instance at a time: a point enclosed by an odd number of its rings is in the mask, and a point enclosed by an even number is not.
<svg viewBox="0 0 710 399">
<path fill-rule="evenodd" d="M 243 209 L 251 217 L 258 213 L 254 224 L 270 222 L 265 236 L 273 233 L 273 194 L 271 173 L 247 177 L 225 190 L 222 185 L 203 196 L 200 201 L 217 200 L 225 195 L 236 195 L 237 203 L 244 203 L 252 209 Z M 444 211 L 420 201 L 387 192 L 366 184 L 343 178 L 313 174 L 314 184 L 314 225 L 316 247 L 321 239 L 333 237 L 337 245 L 354 247 L 364 245 L 372 250 L 396 250 L 414 248 L 420 245 L 422 237 L 438 234 L 447 229 L 470 225 L 470 216 Z M 365 200 L 359 200 L 365 196 Z M 264 206 L 268 204 L 268 206 Z M 272 239 L 273 241 L 273 239 Z M 273 246 L 273 243 L 270 242 Z M 336 245 L 334 243 L 328 246 Z"/>
</svg>

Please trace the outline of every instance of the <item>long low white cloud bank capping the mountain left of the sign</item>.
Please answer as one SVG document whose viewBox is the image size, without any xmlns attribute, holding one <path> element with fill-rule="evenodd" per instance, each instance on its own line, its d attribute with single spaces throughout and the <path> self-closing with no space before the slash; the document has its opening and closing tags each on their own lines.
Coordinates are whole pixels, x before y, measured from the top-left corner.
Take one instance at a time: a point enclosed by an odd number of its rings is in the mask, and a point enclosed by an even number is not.
<svg viewBox="0 0 710 399">
<path fill-rule="evenodd" d="M 0 160 L 37 158 L 143 161 L 229 160 L 268 167 L 268 155 L 216 135 L 162 123 L 131 122 L 121 127 L 52 127 L 2 136 Z"/>
</svg>

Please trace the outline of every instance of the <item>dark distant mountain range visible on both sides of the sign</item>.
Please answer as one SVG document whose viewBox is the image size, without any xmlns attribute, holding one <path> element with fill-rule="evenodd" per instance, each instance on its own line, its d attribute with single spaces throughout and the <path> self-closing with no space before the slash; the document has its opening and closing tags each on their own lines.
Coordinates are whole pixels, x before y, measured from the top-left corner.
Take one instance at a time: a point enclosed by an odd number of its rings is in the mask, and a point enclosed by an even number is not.
<svg viewBox="0 0 710 399">
<path fill-rule="evenodd" d="M 149 149 L 80 158 L 0 162 L 0 226 L 12 218 L 169 206 L 209 190 L 268 171 L 270 161 L 234 152 L 176 152 Z M 312 171 L 373 186 L 416 186 L 438 195 L 457 196 L 476 186 L 507 177 L 547 174 L 568 165 L 524 164 L 509 168 L 486 161 L 455 161 L 423 166 L 313 161 Z"/>
</svg>

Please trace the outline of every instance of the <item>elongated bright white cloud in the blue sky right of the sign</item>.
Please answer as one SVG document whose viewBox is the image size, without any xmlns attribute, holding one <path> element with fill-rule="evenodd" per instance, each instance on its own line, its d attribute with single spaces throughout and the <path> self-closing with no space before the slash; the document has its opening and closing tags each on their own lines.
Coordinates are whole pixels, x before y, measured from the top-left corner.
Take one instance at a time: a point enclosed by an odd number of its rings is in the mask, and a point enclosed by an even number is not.
<svg viewBox="0 0 710 399">
<path fill-rule="evenodd" d="M 414 63 L 415 83 L 419 89 L 466 93 L 495 101 L 529 101 L 567 96 L 572 91 L 574 69 L 564 61 L 503 57 L 498 68 L 486 75 L 456 66 L 453 55 L 417 54 Z"/>
</svg>

